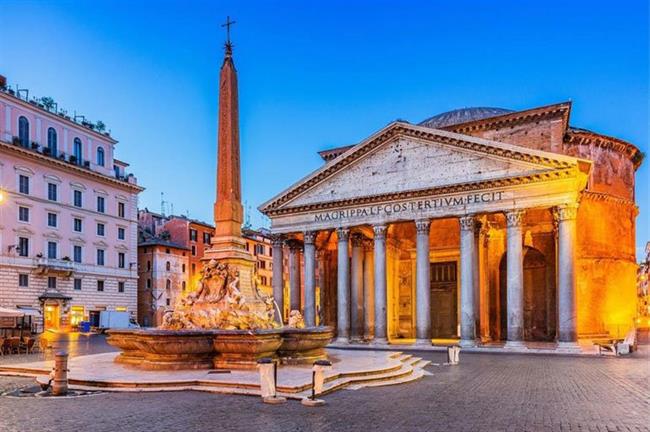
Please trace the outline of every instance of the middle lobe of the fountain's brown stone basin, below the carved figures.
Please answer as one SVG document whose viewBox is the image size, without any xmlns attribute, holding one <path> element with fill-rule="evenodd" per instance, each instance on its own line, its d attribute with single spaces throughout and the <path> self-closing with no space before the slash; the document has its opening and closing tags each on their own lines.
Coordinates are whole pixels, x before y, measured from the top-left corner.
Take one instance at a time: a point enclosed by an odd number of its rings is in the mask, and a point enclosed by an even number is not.
<svg viewBox="0 0 650 432">
<path fill-rule="evenodd" d="M 277 358 L 282 330 L 213 330 L 214 367 L 254 369 L 263 357 Z"/>
</svg>

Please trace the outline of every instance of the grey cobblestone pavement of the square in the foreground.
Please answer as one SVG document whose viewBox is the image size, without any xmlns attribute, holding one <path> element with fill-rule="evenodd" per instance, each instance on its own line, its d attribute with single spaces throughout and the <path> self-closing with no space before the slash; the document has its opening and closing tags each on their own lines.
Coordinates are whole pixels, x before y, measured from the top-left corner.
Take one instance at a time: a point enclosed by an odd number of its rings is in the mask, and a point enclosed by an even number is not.
<svg viewBox="0 0 650 432">
<path fill-rule="evenodd" d="M 650 431 L 649 348 L 627 358 L 466 353 L 414 383 L 327 395 L 321 408 L 200 392 L 0 397 L 0 430 Z M 0 377 L 0 391 L 32 382 Z"/>
</svg>

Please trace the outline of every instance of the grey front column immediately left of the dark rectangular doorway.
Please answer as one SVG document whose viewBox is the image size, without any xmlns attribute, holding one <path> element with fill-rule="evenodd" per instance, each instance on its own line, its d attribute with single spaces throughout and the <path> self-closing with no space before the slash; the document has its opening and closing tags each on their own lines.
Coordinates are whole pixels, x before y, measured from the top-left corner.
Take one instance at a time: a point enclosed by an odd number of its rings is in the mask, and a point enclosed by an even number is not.
<svg viewBox="0 0 650 432">
<path fill-rule="evenodd" d="M 415 221 L 415 337 L 417 343 L 431 345 L 431 279 L 429 268 L 429 228 L 431 221 Z"/>
</svg>

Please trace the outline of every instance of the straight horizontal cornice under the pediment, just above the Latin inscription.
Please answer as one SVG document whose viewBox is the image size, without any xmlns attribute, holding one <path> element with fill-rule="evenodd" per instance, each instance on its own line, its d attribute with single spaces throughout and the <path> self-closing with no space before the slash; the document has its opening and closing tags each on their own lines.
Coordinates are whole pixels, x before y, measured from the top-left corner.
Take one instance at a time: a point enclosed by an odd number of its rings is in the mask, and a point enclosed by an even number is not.
<svg viewBox="0 0 650 432">
<path fill-rule="evenodd" d="M 500 187 L 516 186 L 521 184 L 539 183 L 549 180 L 560 180 L 575 176 L 572 169 L 549 170 L 543 173 L 537 173 L 527 176 L 509 177 L 504 179 L 487 180 L 480 182 L 461 183 L 449 186 L 439 186 L 427 189 L 418 189 L 411 191 L 392 192 L 380 195 L 369 195 L 364 197 L 348 198 L 337 201 L 328 201 L 315 204 L 305 204 L 302 206 L 285 207 L 280 209 L 266 210 L 269 216 L 280 216 L 286 214 L 308 213 L 317 210 L 329 210 L 332 208 L 349 207 L 376 204 L 387 201 L 397 201 L 413 198 L 423 198 L 434 195 L 447 195 L 458 192 L 472 192 L 476 190 L 487 190 Z"/>
</svg>

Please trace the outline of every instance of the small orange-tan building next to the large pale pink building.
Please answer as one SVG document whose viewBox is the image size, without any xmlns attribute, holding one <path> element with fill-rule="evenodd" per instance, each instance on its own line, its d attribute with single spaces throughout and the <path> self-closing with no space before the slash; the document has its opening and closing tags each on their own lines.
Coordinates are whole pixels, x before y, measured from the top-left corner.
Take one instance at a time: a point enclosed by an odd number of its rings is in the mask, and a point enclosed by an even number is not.
<svg viewBox="0 0 650 432">
<path fill-rule="evenodd" d="M 168 239 L 140 232 L 138 242 L 138 322 L 144 327 L 162 324 L 165 311 L 189 287 L 190 249 Z"/>
</svg>

